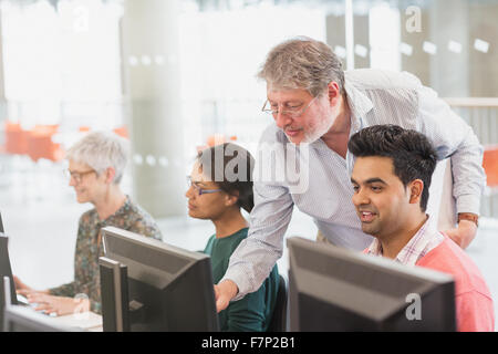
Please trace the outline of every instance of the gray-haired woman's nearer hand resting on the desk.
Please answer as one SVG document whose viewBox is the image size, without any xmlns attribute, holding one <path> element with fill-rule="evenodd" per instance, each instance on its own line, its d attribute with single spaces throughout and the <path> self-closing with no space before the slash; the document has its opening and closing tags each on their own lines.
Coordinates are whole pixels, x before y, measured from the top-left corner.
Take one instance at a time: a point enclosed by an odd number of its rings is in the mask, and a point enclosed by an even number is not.
<svg viewBox="0 0 498 354">
<path fill-rule="evenodd" d="M 55 313 L 58 316 L 90 311 L 89 299 L 53 296 L 38 292 L 28 294 L 28 301 L 38 304 L 35 311 Z"/>
</svg>

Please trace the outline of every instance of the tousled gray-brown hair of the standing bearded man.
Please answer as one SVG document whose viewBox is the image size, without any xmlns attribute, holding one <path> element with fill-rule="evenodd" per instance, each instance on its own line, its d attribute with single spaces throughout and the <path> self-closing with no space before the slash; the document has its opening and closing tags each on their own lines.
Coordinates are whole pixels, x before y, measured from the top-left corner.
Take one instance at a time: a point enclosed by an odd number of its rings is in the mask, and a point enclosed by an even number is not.
<svg viewBox="0 0 498 354">
<path fill-rule="evenodd" d="M 318 96 L 330 82 L 344 90 L 342 62 L 323 42 L 298 37 L 274 46 L 258 73 L 274 88 L 304 88 Z"/>
</svg>

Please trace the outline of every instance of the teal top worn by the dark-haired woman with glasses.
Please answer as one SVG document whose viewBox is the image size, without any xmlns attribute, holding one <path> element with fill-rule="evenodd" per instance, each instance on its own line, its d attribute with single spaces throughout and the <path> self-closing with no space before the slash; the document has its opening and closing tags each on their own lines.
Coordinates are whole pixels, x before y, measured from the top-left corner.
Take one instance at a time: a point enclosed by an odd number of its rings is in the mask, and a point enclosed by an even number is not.
<svg viewBox="0 0 498 354">
<path fill-rule="evenodd" d="M 204 253 L 211 257 L 212 281 L 217 284 L 228 268 L 231 253 L 240 241 L 247 238 L 248 228 L 234 235 L 217 239 L 211 236 Z M 218 313 L 221 331 L 266 332 L 273 314 L 279 289 L 279 272 L 273 267 L 270 275 L 258 291 L 247 294 L 239 301 L 232 301 L 227 309 Z"/>
</svg>

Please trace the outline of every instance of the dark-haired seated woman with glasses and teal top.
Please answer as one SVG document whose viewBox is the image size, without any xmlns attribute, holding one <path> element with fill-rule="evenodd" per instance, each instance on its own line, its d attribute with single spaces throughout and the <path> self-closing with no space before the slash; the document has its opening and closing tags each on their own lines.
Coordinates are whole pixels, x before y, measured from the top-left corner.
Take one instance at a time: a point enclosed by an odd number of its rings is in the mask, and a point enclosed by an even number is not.
<svg viewBox="0 0 498 354">
<path fill-rule="evenodd" d="M 248 222 L 240 209 L 250 212 L 253 207 L 253 165 L 249 152 L 228 143 L 200 152 L 188 176 L 188 215 L 211 220 L 216 229 L 204 250 L 211 257 L 214 283 L 220 281 L 231 253 L 247 237 Z M 278 282 L 274 266 L 259 290 L 219 312 L 221 331 L 267 331 L 277 301 Z"/>
</svg>

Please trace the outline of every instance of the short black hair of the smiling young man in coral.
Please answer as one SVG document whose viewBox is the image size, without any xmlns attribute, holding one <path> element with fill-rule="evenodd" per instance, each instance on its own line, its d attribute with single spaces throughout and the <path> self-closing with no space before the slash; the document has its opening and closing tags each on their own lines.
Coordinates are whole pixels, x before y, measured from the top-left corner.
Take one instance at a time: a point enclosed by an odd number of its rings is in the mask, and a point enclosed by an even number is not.
<svg viewBox="0 0 498 354">
<path fill-rule="evenodd" d="M 414 179 L 422 179 L 421 209 L 426 210 L 437 155 L 425 135 L 393 124 L 373 125 L 354 134 L 347 148 L 356 157 L 390 157 L 394 174 L 405 187 Z"/>
</svg>

